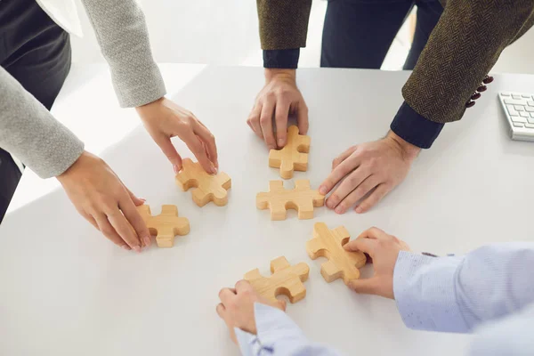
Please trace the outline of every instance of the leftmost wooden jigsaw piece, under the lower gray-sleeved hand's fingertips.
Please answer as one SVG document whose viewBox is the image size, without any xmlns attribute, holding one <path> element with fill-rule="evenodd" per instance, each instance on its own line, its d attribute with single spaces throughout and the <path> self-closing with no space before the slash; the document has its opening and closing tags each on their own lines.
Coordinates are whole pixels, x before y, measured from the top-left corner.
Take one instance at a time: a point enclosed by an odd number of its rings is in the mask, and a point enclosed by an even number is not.
<svg viewBox="0 0 534 356">
<path fill-rule="evenodd" d="M 147 224 L 150 235 L 156 235 L 158 247 L 173 247 L 176 235 L 187 235 L 190 232 L 189 220 L 178 216 L 176 206 L 161 206 L 161 214 L 152 216 L 150 206 L 137 206 L 142 220 Z"/>
</svg>

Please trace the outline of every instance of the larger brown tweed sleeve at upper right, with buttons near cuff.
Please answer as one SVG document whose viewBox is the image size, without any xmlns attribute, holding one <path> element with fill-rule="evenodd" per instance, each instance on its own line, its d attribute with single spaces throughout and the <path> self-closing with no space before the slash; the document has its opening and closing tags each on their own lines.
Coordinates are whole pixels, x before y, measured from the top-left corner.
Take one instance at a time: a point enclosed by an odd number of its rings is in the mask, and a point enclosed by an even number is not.
<svg viewBox="0 0 534 356">
<path fill-rule="evenodd" d="M 449 0 L 404 100 L 434 122 L 459 120 L 500 53 L 534 22 L 534 0 Z"/>
</svg>

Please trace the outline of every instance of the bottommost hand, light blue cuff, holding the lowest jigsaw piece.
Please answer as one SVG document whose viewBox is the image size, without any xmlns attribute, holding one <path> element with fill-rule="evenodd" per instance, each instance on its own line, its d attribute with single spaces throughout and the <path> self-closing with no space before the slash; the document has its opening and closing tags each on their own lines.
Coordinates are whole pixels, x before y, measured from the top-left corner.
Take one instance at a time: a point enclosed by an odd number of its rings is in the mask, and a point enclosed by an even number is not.
<svg viewBox="0 0 534 356">
<path fill-rule="evenodd" d="M 217 314 L 224 320 L 230 330 L 231 339 L 237 344 L 234 328 L 240 328 L 250 334 L 256 334 L 254 303 L 262 303 L 286 311 L 286 302 L 272 303 L 259 295 L 247 280 L 239 280 L 235 288 L 223 288 L 219 292 L 221 303 L 217 305 Z"/>
</svg>

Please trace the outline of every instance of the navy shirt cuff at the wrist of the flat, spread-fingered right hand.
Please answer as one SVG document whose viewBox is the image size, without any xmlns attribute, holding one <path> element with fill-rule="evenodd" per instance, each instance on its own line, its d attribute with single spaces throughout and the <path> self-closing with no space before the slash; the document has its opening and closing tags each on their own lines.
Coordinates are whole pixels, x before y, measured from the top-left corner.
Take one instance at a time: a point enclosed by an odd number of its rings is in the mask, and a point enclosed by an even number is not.
<svg viewBox="0 0 534 356">
<path fill-rule="evenodd" d="M 430 149 L 434 140 L 438 138 L 444 124 L 436 123 L 417 114 L 404 101 L 401 109 L 393 118 L 390 126 L 392 132 L 399 135 L 404 141 L 421 149 Z"/>
</svg>

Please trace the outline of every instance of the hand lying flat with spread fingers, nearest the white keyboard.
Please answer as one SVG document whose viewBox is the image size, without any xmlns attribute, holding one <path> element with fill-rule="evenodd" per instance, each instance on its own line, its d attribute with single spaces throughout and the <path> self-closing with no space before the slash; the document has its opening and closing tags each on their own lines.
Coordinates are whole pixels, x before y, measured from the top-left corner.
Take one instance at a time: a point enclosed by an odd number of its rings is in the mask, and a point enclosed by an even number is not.
<svg viewBox="0 0 534 356">
<path fill-rule="evenodd" d="M 341 182 L 326 205 L 344 214 L 368 195 L 355 207 L 356 213 L 365 213 L 404 180 L 420 150 L 391 131 L 384 139 L 352 146 L 334 159 L 332 172 L 319 191 L 327 195 Z"/>
</svg>

